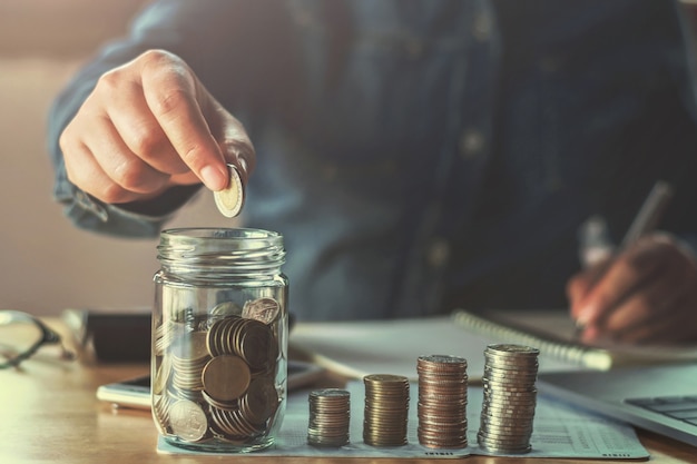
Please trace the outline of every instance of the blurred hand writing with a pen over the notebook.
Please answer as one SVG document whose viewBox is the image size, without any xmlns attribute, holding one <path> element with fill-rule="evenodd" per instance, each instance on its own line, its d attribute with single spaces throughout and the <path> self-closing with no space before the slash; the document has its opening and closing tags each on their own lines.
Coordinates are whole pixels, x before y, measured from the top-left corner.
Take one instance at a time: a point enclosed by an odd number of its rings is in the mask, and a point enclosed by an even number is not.
<svg viewBox="0 0 697 464">
<path fill-rule="evenodd" d="M 697 264 L 667 234 L 577 274 L 567 285 L 581 338 L 635 344 L 697 340 Z"/>
</svg>

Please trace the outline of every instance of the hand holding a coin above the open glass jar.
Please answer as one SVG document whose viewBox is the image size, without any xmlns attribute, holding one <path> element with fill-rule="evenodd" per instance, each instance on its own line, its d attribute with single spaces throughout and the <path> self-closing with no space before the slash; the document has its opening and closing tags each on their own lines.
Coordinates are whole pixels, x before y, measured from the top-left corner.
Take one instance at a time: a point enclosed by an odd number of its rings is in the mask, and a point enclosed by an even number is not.
<svg viewBox="0 0 697 464">
<path fill-rule="evenodd" d="M 106 72 L 60 137 L 68 178 L 109 204 L 177 185 L 246 184 L 255 152 L 242 124 L 177 56 L 151 50 Z"/>
</svg>

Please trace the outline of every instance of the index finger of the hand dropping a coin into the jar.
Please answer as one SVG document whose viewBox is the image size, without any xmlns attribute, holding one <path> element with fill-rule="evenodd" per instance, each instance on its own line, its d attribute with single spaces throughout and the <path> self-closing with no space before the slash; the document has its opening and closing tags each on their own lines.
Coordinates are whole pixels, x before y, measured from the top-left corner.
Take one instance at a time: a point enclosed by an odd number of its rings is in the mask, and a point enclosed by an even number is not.
<svg viewBox="0 0 697 464">
<path fill-rule="evenodd" d="M 186 63 L 154 55 L 145 60 L 141 72 L 150 111 L 177 154 L 206 187 L 214 191 L 224 189 L 228 182 L 225 159 L 198 100 L 205 91 Z"/>
</svg>

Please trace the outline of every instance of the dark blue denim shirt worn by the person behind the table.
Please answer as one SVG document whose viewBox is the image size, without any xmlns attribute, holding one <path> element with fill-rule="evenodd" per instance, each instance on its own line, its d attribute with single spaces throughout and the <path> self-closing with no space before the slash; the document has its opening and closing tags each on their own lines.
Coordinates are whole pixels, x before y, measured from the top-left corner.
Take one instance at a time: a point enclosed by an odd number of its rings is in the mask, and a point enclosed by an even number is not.
<svg viewBox="0 0 697 464">
<path fill-rule="evenodd" d="M 160 0 L 50 118 L 78 225 L 156 235 L 66 178 L 57 139 L 97 78 L 183 57 L 257 151 L 244 221 L 285 236 L 301 319 L 563 307 L 579 225 L 619 241 L 651 185 L 697 231 L 697 131 L 679 6 L 652 0 Z"/>
</svg>

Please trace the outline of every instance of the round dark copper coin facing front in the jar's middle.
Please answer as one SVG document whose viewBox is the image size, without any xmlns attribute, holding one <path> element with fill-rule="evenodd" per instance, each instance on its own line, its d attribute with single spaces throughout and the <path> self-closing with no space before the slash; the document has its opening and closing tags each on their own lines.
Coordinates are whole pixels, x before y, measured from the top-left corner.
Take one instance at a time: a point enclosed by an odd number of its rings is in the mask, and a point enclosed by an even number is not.
<svg viewBox="0 0 697 464">
<path fill-rule="evenodd" d="M 229 402 L 242 396 L 249 386 L 249 366 L 235 355 L 216 356 L 202 374 L 204 389 L 210 397 Z"/>
</svg>

